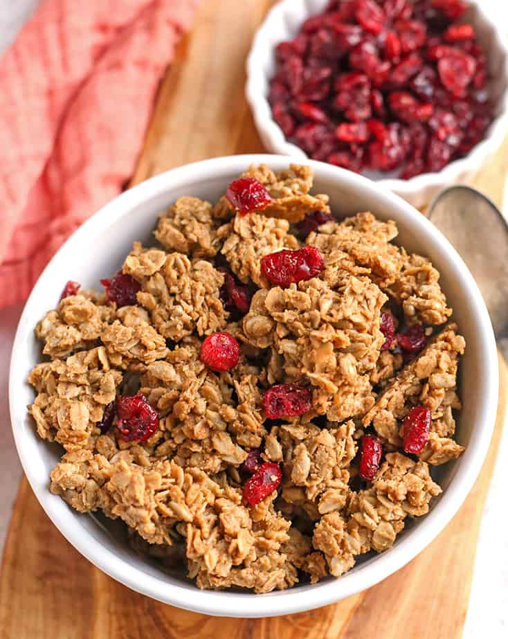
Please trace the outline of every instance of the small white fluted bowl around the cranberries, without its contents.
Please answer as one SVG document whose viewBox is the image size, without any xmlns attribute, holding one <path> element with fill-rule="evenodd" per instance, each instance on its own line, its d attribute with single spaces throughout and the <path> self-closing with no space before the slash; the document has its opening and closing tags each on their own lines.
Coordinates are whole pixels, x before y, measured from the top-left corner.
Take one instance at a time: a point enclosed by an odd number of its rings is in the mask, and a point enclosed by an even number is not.
<svg viewBox="0 0 508 639">
<path fill-rule="evenodd" d="M 247 59 L 246 98 L 264 146 L 270 152 L 291 155 L 299 161 L 307 159 L 307 155 L 284 137 L 282 129 L 273 120 L 268 102 L 269 81 L 275 73 L 275 46 L 293 39 L 305 19 L 323 12 L 328 4 L 329 0 L 283 0 L 278 3 L 257 30 Z M 464 21 L 475 26 L 493 77 L 491 92 L 496 103 L 496 118 L 487 136 L 466 157 L 451 162 L 437 173 L 424 173 L 409 180 L 388 179 L 379 172 L 368 173 L 368 177 L 376 179 L 417 208 L 428 204 L 445 186 L 477 174 L 508 133 L 508 38 L 501 30 L 503 25 L 506 26 L 506 20 L 500 19 L 498 24 L 478 1 L 471 3 Z"/>
</svg>

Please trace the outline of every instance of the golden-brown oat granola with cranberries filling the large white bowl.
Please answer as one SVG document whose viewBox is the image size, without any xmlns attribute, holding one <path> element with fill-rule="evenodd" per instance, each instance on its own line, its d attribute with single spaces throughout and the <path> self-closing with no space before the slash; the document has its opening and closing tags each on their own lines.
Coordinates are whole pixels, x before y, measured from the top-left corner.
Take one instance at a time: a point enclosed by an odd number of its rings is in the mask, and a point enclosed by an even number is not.
<svg viewBox="0 0 508 639">
<path fill-rule="evenodd" d="M 305 166 L 239 182 L 262 208 L 179 198 L 105 294 L 79 289 L 37 323 L 29 411 L 64 448 L 53 494 L 121 519 L 138 552 L 199 588 L 266 593 L 340 577 L 428 512 L 431 468 L 463 451 L 465 344 L 394 222 L 337 222 Z M 306 246 L 317 276 L 295 266 Z M 273 253 L 287 285 L 263 267 Z M 214 363 L 228 343 L 235 357 Z"/>
</svg>

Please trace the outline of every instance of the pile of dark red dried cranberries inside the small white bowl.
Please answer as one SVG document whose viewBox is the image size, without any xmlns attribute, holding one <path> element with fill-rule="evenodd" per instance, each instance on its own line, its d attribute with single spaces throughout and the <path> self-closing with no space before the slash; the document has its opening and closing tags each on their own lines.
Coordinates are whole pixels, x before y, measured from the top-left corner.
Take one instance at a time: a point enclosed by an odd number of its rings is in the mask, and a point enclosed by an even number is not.
<svg viewBox="0 0 508 639">
<path fill-rule="evenodd" d="M 402 179 L 440 170 L 493 120 L 487 58 L 472 26 L 455 22 L 465 8 L 463 0 L 332 0 L 278 45 L 273 118 L 313 159 Z M 439 118 L 427 125 L 437 109 L 453 112 L 458 129 L 445 132 Z M 489 122 L 471 130 L 480 112 Z M 382 126 L 365 129 L 371 118 Z"/>
</svg>

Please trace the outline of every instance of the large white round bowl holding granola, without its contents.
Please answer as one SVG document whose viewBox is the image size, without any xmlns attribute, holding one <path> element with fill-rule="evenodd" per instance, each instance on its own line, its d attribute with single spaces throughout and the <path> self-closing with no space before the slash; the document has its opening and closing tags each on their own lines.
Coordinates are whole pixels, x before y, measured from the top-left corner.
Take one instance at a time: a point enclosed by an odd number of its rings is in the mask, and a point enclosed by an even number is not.
<svg viewBox="0 0 508 639">
<path fill-rule="evenodd" d="M 158 175 L 111 201 L 83 224 L 48 264 L 26 303 L 12 349 L 12 428 L 24 471 L 46 514 L 82 555 L 114 579 L 161 602 L 210 615 L 264 617 L 313 609 L 363 591 L 399 570 L 436 537 L 464 501 L 487 453 L 496 417 L 496 343 L 482 296 L 459 255 L 423 215 L 388 189 L 332 165 L 309 162 L 316 174 L 316 192 L 330 195 L 339 217 L 372 210 L 380 219 L 394 219 L 401 244 L 428 255 L 442 274 L 444 291 L 466 337 L 461 369 L 464 408 L 457 429 L 457 438 L 466 451 L 459 460 L 440 469 L 439 483 L 444 493 L 433 501 L 430 513 L 409 521 L 390 550 L 363 561 L 340 579 L 253 595 L 199 591 L 184 577 L 163 573 L 118 541 L 114 522 L 79 514 L 49 492 L 48 477 L 62 451 L 35 433 L 26 412 L 26 405 L 34 398 L 26 377 L 41 359 L 41 347 L 33 334 L 35 323 L 57 305 L 66 280 L 98 288 L 100 278 L 120 267 L 132 240 L 149 240 L 156 216 L 177 197 L 194 195 L 213 201 L 251 163 L 264 162 L 280 170 L 289 161 L 288 157 L 273 155 L 206 160 Z"/>
</svg>

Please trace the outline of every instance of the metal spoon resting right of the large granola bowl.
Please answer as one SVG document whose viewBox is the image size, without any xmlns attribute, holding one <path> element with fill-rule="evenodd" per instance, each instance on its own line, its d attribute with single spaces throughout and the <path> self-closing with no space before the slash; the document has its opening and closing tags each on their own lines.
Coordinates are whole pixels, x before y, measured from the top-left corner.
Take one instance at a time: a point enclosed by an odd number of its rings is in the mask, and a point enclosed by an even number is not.
<svg viewBox="0 0 508 639">
<path fill-rule="evenodd" d="M 473 274 L 489 310 L 498 346 L 508 357 L 508 224 L 487 197 L 469 186 L 440 193 L 427 212 Z"/>
</svg>

